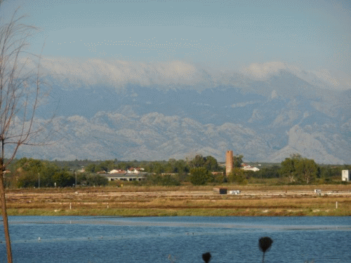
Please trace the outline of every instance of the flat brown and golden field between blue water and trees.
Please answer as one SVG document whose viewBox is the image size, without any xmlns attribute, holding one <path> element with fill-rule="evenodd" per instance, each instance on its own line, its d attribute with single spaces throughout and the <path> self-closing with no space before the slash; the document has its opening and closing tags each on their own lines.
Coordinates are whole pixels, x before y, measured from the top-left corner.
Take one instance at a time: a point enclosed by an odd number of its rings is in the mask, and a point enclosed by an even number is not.
<svg viewBox="0 0 351 263">
<path fill-rule="evenodd" d="M 8 215 L 350 216 L 351 185 L 7 189 Z M 321 189 L 315 194 L 314 189 Z"/>
</svg>

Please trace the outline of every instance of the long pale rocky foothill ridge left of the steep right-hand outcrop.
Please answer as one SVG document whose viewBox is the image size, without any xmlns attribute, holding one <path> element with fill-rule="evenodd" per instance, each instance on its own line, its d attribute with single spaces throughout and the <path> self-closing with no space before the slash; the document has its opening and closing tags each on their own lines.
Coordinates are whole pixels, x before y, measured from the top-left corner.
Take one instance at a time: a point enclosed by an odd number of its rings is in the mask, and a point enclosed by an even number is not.
<svg viewBox="0 0 351 263">
<path fill-rule="evenodd" d="M 211 154 L 221 159 L 226 149 L 248 153 L 247 158 L 261 158 L 270 149 L 253 130 L 241 125 L 203 125 L 188 118 L 159 113 L 125 116 L 98 112 L 93 118 L 81 116 L 56 118 L 64 138 L 51 147 L 37 151 L 23 147 L 21 154 L 51 159 L 143 159 L 184 158 Z M 259 150 L 256 147 L 260 147 Z"/>
</svg>

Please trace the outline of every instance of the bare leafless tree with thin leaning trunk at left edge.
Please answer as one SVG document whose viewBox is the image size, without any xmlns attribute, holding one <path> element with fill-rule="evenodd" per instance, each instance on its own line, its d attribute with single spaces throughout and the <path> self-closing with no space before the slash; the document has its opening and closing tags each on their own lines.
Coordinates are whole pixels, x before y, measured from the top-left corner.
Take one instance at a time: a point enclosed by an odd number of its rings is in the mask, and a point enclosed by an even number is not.
<svg viewBox="0 0 351 263">
<path fill-rule="evenodd" d="M 0 24 L 0 197 L 8 263 L 12 263 L 12 252 L 4 173 L 22 145 L 40 145 L 36 138 L 45 128 L 42 125 L 37 126 L 34 118 L 40 101 L 41 56 L 25 51 L 27 39 L 36 27 L 22 24 L 23 18 L 25 16 L 18 18 L 17 10 L 8 23 Z M 29 70 L 27 67 L 32 61 L 30 56 L 38 60 L 36 70 Z"/>
</svg>

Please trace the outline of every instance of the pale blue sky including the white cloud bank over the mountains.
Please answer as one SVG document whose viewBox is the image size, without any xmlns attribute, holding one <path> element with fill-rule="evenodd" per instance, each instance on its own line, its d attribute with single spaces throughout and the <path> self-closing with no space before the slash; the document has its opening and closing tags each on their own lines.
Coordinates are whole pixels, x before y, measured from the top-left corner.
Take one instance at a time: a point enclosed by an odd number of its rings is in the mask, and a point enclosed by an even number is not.
<svg viewBox="0 0 351 263">
<path fill-rule="evenodd" d="M 200 69 L 212 79 L 289 69 L 351 88 L 347 0 L 11 0 L 0 18 L 18 6 L 39 28 L 30 51 L 77 83 L 189 84 L 206 82 Z"/>
</svg>

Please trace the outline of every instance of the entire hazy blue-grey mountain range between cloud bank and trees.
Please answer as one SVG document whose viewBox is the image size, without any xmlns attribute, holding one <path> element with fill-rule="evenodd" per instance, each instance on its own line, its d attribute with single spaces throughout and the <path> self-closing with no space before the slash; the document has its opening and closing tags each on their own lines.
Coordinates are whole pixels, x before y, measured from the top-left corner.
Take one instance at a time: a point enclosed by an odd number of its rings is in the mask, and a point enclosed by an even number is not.
<svg viewBox="0 0 351 263">
<path fill-rule="evenodd" d="M 55 112 L 46 130 L 55 140 L 22 147 L 18 157 L 152 161 L 202 154 L 224 161 L 233 150 L 244 161 L 301 154 L 317 163 L 351 162 L 351 90 L 325 88 L 317 77 L 282 69 L 265 79 L 238 73 L 203 86 L 69 88 L 51 81 L 37 120 Z"/>
</svg>

